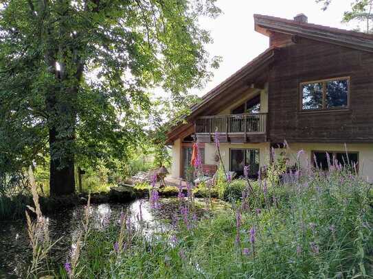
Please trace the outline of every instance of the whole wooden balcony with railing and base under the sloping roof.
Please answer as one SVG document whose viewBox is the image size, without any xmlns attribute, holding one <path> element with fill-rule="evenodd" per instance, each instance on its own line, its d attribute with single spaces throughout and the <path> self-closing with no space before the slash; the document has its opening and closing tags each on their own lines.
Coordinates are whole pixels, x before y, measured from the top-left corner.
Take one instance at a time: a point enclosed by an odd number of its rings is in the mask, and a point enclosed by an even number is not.
<svg viewBox="0 0 373 279">
<path fill-rule="evenodd" d="M 221 143 L 264 143 L 267 141 L 267 113 L 229 114 L 196 119 L 196 140 L 214 142 L 217 132 Z"/>
</svg>

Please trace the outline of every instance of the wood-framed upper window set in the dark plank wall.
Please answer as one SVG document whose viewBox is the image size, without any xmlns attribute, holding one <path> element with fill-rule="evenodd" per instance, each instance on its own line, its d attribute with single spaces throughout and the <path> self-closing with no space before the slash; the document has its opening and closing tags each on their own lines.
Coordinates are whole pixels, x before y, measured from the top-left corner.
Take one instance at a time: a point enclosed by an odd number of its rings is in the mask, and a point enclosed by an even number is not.
<svg viewBox="0 0 373 279">
<path fill-rule="evenodd" d="M 348 77 L 300 84 L 302 110 L 347 108 L 349 84 Z"/>
</svg>

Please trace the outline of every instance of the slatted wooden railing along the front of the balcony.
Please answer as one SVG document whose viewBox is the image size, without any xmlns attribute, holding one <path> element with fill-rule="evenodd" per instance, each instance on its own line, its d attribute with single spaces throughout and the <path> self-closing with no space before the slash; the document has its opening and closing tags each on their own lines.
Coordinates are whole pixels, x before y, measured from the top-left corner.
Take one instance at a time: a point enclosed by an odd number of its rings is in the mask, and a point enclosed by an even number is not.
<svg viewBox="0 0 373 279">
<path fill-rule="evenodd" d="M 214 115 L 196 120 L 196 134 L 265 133 L 266 128 L 267 113 Z"/>
</svg>

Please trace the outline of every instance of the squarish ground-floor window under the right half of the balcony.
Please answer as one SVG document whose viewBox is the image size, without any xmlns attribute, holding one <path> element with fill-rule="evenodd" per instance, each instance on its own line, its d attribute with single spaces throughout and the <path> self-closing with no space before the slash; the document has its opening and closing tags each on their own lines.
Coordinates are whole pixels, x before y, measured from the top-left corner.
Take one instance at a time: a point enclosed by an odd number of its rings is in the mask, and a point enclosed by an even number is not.
<svg viewBox="0 0 373 279">
<path fill-rule="evenodd" d="M 229 149 L 229 170 L 243 175 L 243 167 L 249 166 L 249 177 L 256 178 L 259 171 L 259 149 Z"/>
</svg>

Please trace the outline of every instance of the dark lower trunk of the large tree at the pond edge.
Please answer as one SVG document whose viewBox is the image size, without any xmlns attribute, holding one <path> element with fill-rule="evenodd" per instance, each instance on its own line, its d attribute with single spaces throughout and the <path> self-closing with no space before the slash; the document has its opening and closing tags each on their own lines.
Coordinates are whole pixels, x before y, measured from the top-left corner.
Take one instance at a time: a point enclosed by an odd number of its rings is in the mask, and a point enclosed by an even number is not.
<svg viewBox="0 0 373 279">
<path fill-rule="evenodd" d="M 49 153 L 51 155 L 49 191 L 51 196 L 70 195 L 75 192 L 74 156 L 65 156 L 63 162 L 60 159 L 52 159 L 57 141 L 56 134 L 56 129 L 49 129 Z"/>
</svg>

